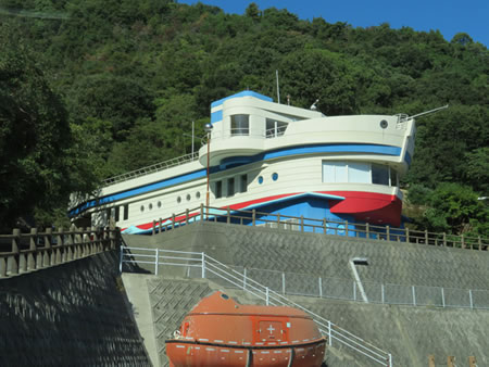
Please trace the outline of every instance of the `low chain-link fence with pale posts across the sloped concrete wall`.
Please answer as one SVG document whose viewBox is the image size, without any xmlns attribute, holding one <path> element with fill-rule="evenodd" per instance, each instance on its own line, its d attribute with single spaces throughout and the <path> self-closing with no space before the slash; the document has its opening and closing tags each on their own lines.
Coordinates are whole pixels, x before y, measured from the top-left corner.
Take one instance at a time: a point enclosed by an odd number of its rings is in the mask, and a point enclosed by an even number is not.
<svg viewBox="0 0 489 367">
<path fill-rule="evenodd" d="M 308 274 L 236 266 L 231 266 L 231 268 L 243 275 L 244 279 L 250 278 L 259 281 L 281 294 L 378 304 L 489 309 L 489 290 L 405 286 L 372 281 L 358 283 L 354 279 L 314 277 Z M 190 273 L 192 277 L 200 277 L 198 269 L 192 269 Z M 213 277 L 210 276 L 210 278 Z M 222 282 L 217 277 L 215 278 L 212 280 Z"/>
</svg>

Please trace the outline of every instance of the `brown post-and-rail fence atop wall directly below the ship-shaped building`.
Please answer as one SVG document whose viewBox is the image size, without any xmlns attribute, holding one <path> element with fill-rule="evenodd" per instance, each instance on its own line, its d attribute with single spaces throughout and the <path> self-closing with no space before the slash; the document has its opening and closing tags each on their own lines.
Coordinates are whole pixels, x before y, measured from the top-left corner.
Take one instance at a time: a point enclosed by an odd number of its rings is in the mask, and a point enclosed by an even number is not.
<svg viewBox="0 0 489 367">
<path fill-rule="evenodd" d="M 388 240 L 397 242 L 424 243 L 436 246 L 461 248 L 471 250 L 489 249 L 489 239 L 428 232 L 390 226 L 373 226 L 369 224 L 349 223 L 348 220 L 327 220 L 294 217 L 252 211 L 231 210 L 229 207 L 203 206 L 186 210 L 168 218 L 153 220 L 153 235 L 156 231 L 173 229 L 192 222 L 210 220 L 227 224 L 250 225 L 256 227 L 281 228 L 301 232 L 337 235 L 365 238 L 371 240 Z"/>
</svg>

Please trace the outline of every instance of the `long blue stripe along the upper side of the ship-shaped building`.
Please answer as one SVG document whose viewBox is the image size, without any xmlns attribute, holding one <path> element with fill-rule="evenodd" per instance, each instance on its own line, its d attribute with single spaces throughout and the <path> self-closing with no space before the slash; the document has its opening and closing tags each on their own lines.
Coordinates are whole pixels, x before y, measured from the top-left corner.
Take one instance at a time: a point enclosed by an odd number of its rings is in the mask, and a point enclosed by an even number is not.
<svg viewBox="0 0 489 367">
<path fill-rule="evenodd" d="M 256 154 L 254 156 L 235 156 L 230 159 L 223 160 L 220 166 L 211 167 L 211 174 L 217 172 L 223 172 L 229 166 L 238 166 L 249 163 L 255 163 L 260 161 L 267 161 L 278 157 L 285 157 L 289 155 L 299 154 L 315 154 L 315 153 L 369 153 L 369 154 L 383 154 L 383 155 L 400 155 L 401 149 L 391 145 L 375 145 L 375 144 L 317 144 L 317 145 L 306 145 L 297 148 L 286 148 L 280 150 L 275 150 L 266 153 Z M 408 157 L 408 156 L 406 156 Z M 205 177 L 206 169 L 199 169 L 189 174 L 172 177 L 158 181 L 150 185 L 145 185 L 139 188 L 130 189 L 127 191 L 122 191 L 111 195 L 102 197 L 98 201 L 90 200 L 78 207 L 68 212 L 68 216 L 72 217 L 90 207 L 98 206 L 100 204 L 108 204 L 117 200 L 127 199 L 130 197 L 139 195 L 154 190 L 160 190 L 167 188 L 170 186 L 175 186 Z"/>
</svg>

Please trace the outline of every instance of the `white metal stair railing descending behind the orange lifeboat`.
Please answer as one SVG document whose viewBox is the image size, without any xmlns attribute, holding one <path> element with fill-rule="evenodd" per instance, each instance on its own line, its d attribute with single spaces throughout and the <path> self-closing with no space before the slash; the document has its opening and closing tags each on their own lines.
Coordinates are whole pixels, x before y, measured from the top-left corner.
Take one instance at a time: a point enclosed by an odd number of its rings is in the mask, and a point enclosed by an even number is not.
<svg viewBox="0 0 489 367">
<path fill-rule="evenodd" d="M 141 258 L 141 260 L 139 260 Z M 215 258 L 199 252 L 186 252 L 174 250 L 160 249 L 143 249 L 143 248 L 128 248 L 121 246 L 120 271 L 124 269 L 124 264 L 148 264 L 154 269 L 154 274 L 159 274 L 160 266 L 180 266 L 190 268 L 199 268 L 201 278 L 209 278 L 213 275 L 227 284 L 231 284 L 238 289 L 242 289 L 248 293 L 265 301 L 266 305 L 290 306 L 302 309 L 308 313 L 318 326 L 321 332 L 327 336 L 328 344 L 331 346 L 336 341 L 340 344 L 349 346 L 358 353 L 364 355 L 371 360 L 376 362 L 381 366 L 392 366 L 392 355 L 381 349 L 368 343 L 354 336 L 353 333 L 340 328 L 330 320 L 306 309 L 305 307 L 288 300 L 284 295 L 271 290 L 258 281 L 249 278 L 246 274 L 240 274 L 229 266 L 216 261 Z"/>
</svg>

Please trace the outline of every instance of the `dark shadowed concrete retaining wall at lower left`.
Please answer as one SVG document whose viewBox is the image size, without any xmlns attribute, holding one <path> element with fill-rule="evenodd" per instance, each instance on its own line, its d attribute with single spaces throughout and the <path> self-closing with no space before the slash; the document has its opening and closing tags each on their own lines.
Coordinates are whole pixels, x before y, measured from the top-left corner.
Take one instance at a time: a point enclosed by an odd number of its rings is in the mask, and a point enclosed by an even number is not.
<svg viewBox="0 0 489 367">
<path fill-rule="evenodd" d="M 0 280 L 0 366 L 150 366 L 115 251 Z"/>
</svg>

